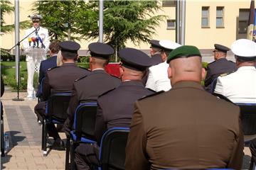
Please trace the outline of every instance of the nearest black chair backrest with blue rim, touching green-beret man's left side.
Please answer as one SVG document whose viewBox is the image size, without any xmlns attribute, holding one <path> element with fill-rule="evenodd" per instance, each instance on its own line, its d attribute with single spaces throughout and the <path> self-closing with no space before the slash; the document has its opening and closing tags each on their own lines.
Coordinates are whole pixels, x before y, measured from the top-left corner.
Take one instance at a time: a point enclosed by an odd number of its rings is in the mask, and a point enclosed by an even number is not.
<svg viewBox="0 0 256 170">
<path fill-rule="evenodd" d="M 100 145 L 102 170 L 124 169 L 128 134 L 129 128 L 111 128 L 102 136 Z"/>
</svg>

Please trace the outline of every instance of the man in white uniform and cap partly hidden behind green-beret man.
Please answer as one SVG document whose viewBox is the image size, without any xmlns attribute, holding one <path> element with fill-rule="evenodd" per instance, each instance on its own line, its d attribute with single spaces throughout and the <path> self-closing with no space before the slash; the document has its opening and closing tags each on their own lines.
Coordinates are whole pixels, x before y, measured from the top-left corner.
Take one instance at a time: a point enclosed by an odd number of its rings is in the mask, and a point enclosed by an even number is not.
<svg viewBox="0 0 256 170">
<path fill-rule="evenodd" d="M 161 58 L 163 62 L 149 67 L 149 77 L 146 81 L 146 88 L 154 91 L 169 91 L 171 89 L 171 81 L 167 74 L 169 64 L 166 63 L 166 60 L 169 53 L 181 45 L 170 40 L 160 40 L 159 44 L 161 45 Z"/>
</svg>

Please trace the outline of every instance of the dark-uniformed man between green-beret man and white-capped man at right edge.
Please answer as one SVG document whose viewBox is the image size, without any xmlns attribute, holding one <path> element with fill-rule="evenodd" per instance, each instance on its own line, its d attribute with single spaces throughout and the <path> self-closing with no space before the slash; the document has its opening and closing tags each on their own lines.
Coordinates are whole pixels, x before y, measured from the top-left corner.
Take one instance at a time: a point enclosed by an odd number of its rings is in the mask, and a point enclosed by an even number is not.
<svg viewBox="0 0 256 170">
<path fill-rule="evenodd" d="M 230 48 L 225 47 L 224 45 L 215 44 L 215 50 L 213 50 L 214 62 L 208 64 L 206 69 L 206 79 L 205 79 L 205 87 L 206 91 L 212 93 L 215 89 L 215 84 L 213 84 L 213 89 L 211 89 L 212 82 L 217 79 L 220 74 L 231 73 L 237 70 L 235 62 L 229 61 L 226 59 L 227 52 Z M 213 91 L 211 91 L 213 90 Z"/>
</svg>

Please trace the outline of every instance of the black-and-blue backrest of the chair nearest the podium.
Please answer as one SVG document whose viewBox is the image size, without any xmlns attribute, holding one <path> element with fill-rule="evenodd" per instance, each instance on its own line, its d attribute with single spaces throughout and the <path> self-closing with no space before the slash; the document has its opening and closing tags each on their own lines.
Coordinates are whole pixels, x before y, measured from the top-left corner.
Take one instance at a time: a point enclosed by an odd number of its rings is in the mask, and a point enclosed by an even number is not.
<svg viewBox="0 0 256 170">
<path fill-rule="evenodd" d="M 48 118 L 64 122 L 68 118 L 67 110 L 70 97 L 70 91 L 51 94 L 46 104 Z"/>
</svg>

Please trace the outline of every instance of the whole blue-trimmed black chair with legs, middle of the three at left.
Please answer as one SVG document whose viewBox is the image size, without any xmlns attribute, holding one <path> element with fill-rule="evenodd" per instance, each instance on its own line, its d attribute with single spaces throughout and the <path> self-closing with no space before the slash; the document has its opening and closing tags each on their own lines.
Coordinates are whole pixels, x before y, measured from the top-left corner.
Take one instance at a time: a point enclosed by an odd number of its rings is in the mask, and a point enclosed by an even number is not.
<svg viewBox="0 0 256 170">
<path fill-rule="evenodd" d="M 80 103 L 75 110 L 75 117 L 73 122 L 73 130 L 68 137 L 66 157 L 65 157 L 65 169 L 68 169 L 69 164 L 69 152 L 70 152 L 70 166 L 71 169 L 75 169 L 74 152 L 75 145 L 79 143 L 93 144 L 96 143 L 95 139 L 95 119 L 97 113 L 97 101 L 88 101 Z"/>
</svg>

